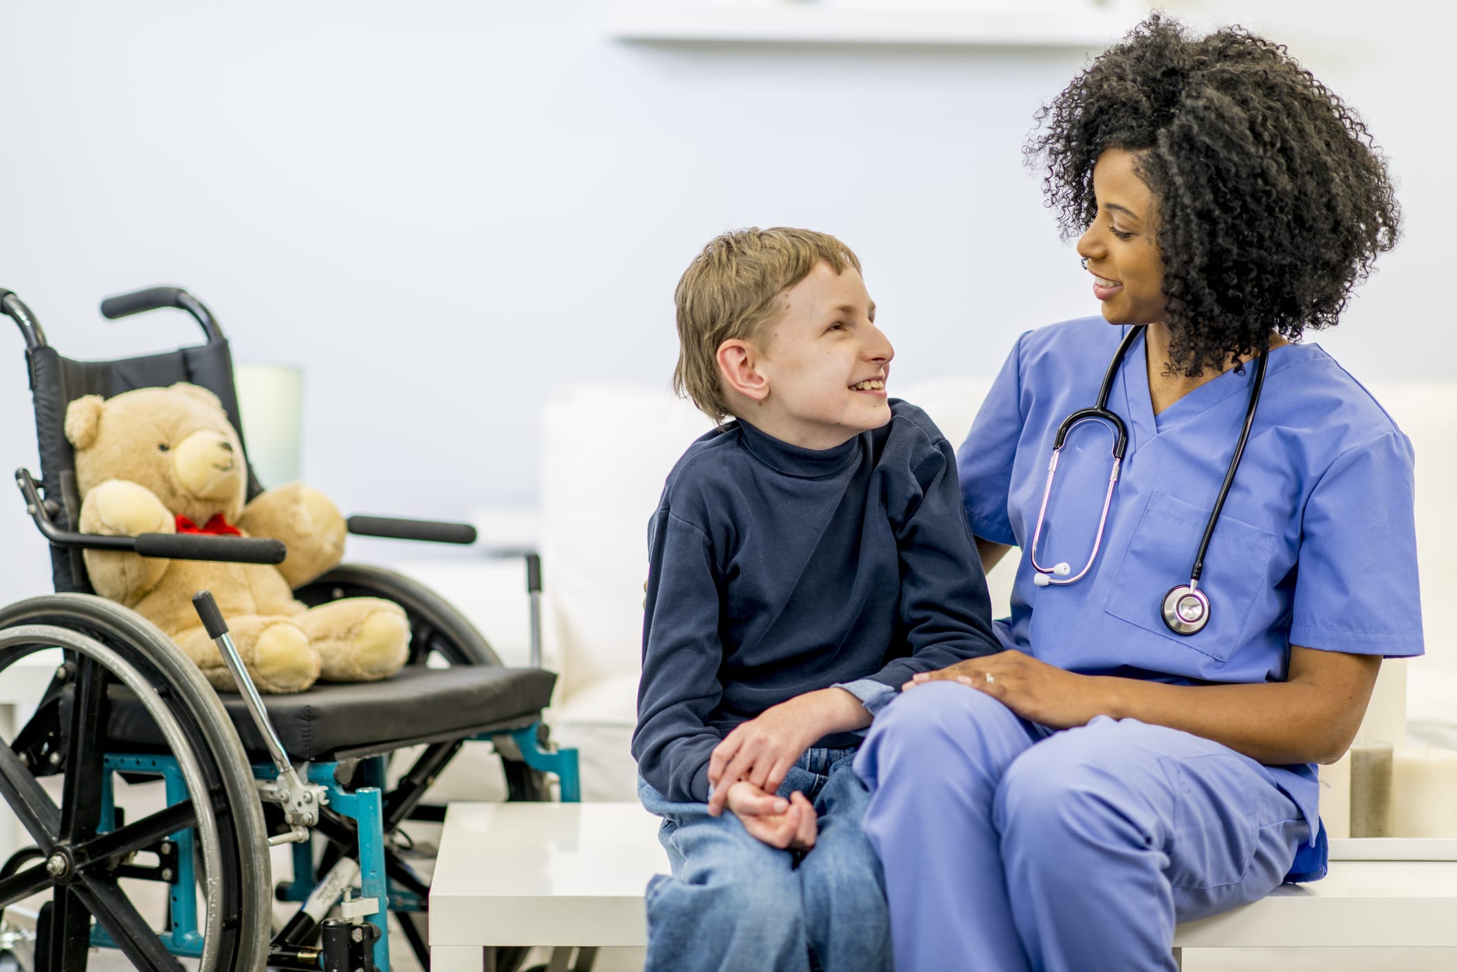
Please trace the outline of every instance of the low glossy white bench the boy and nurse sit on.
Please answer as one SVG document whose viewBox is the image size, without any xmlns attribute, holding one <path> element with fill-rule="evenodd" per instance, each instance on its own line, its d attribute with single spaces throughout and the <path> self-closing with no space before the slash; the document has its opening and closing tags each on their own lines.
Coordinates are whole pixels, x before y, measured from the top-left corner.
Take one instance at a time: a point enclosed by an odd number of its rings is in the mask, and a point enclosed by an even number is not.
<svg viewBox="0 0 1457 972">
<path fill-rule="evenodd" d="M 452 804 L 430 889 L 431 969 L 481 972 L 498 946 L 561 949 L 561 969 L 570 947 L 645 946 L 643 892 L 666 870 L 657 818 L 637 803 Z M 1338 860 L 1324 880 L 1174 933 L 1176 956 L 1316 946 L 1457 947 L 1457 861 Z"/>
</svg>

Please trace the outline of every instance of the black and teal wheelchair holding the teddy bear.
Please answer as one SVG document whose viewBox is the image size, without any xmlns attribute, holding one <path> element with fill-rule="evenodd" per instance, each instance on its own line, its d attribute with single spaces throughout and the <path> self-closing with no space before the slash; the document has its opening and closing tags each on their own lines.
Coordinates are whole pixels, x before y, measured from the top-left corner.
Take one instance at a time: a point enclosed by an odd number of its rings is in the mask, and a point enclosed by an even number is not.
<svg viewBox="0 0 1457 972">
<path fill-rule="evenodd" d="M 102 313 L 115 319 L 162 307 L 189 313 L 205 342 L 76 361 L 47 344 L 19 297 L 0 290 L 0 310 L 26 342 L 41 456 L 41 481 L 19 469 L 16 482 L 50 542 L 55 589 L 0 608 L 0 678 L 22 660 L 55 659 L 34 716 L 0 745 L 0 797 L 34 841 L 0 867 L 0 931 L 3 909 L 48 892 L 32 912 L 35 969 L 79 972 L 99 946 L 119 949 L 149 972 L 182 968 L 179 956 L 203 972 L 388 972 L 386 915 L 393 911 L 428 969 L 421 920 L 430 889 L 402 825 L 444 819 L 425 791 L 463 743 L 494 743 L 507 799 L 549 800 L 545 774 L 558 778 L 562 800 L 580 799 L 576 750 L 555 749 L 541 721 L 555 675 L 539 667 L 539 561 L 526 555 L 535 667 L 504 667 L 471 622 L 430 589 L 345 564 L 294 596 L 310 606 L 347 596 L 399 603 L 411 624 L 404 670 L 383 682 L 321 683 L 270 697 L 265 708 L 237 666 L 239 694 L 216 692 L 149 621 L 95 596 L 82 551 L 281 563 L 283 544 L 76 529 L 80 500 L 64 436 L 73 399 L 192 382 L 217 393 L 246 434 L 227 341 L 195 297 L 159 287 L 105 300 Z M 249 498 L 261 491 L 249 471 Z M 350 530 L 475 541 L 469 526 L 427 520 L 351 517 Z M 226 619 L 216 606 L 208 619 L 207 597 L 197 603 L 226 657 Z M 408 767 L 404 749 L 414 758 Z M 392 758 L 399 765 L 390 768 Z M 118 783 L 150 783 L 154 791 L 157 781 L 163 809 L 125 819 Z M 268 851 L 284 842 L 291 844 L 293 880 L 274 887 Z M 299 905 L 277 931 L 275 898 Z M 331 918 L 335 909 L 342 917 Z M 10 930 L 13 940 L 19 931 Z M 523 957 L 525 949 L 503 950 L 495 972 L 514 971 Z"/>
</svg>

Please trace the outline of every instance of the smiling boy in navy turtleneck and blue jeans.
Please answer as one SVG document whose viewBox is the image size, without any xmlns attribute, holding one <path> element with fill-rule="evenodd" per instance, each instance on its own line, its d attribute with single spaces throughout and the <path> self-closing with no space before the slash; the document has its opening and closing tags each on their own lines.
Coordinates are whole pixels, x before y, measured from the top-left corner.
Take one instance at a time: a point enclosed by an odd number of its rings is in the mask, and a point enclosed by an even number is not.
<svg viewBox="0 0 1457 972">
<path fill-rule="evenodd" d="M 675 302 L 675 388 L 724 424 L 648 526 L 632 755 L 673 876 L 647 972 L 890 969 L 857 730 L 914 673 L 1000 650 L 956 459 L 886 398 L 893 350 L 835 238 L 726 233 Z"/>
</svg>

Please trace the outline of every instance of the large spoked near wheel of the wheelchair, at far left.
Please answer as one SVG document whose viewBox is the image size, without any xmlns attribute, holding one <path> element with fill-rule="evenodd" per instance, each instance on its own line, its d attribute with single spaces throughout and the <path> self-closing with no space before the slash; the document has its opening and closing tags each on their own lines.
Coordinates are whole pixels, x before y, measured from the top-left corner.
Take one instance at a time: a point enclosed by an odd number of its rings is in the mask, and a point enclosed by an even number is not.
<svg viewBox="0 0 1457 972">
<path fill-rule="evenodd" d="M 261 969 L 271 911 L 262 809 L 217 694 L 170 638 L 109 600 L 50 595 L 0 611 L 0 672 L 57 647 L 67 662 L 35 718 L 0 746 L 0 797 L 44 854 L 0 880 L 0 908 L 51 890 L 36 949 L 48 969 L 86 968 L 92 918 L 136 968 L 178 969 L 117 871 L 134 853 L 191 828 L 205 899 L 198 968 Z M 134 694 L 168 740 L 189 799 L 101 832 L 108 697 L 118 691 Z M 58 803 L 38 781 L 57 774 Z"/>
</svg>

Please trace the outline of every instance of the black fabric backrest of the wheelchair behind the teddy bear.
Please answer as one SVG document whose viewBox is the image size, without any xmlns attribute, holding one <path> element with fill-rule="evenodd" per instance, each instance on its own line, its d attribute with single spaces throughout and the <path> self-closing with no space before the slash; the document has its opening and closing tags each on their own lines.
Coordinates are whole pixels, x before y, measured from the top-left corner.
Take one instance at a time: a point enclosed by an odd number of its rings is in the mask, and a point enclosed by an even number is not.
<svg viewBox="0 0 1457 972">
<path fill-rule="evenodd" d="M 243 424 L 237 412 L 237 391 L 233 386 L 233 357 L 227 341 L 216 326 L 207 344 L 179 348 L 163 354 L 121 358 L 117 361 L 73 361 L 42 342 L 26 348 L 31 369 L 31 396 L 35 404 L 35 436 L 41 453 L 41 481 L 47 500 L 60 504 L 55 514 L 63 529 L 80 529 L 80 498 L 76 491 L 76 459 L 66 439 L 66 408 L 83 395 L 111 398 L 134 388 L 166 386 L 176 382 L 201 385 L 217 395 L 227 420 L 243 442 Z M 248 468 L 248 498 L 262 487 Z M 93 593 L 86 579 L 80 551 L 51 548 L 51 579 L 57 592 Z"/>
</svg>

